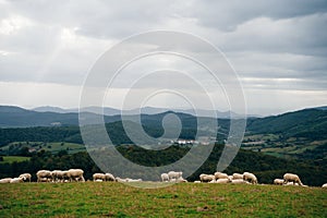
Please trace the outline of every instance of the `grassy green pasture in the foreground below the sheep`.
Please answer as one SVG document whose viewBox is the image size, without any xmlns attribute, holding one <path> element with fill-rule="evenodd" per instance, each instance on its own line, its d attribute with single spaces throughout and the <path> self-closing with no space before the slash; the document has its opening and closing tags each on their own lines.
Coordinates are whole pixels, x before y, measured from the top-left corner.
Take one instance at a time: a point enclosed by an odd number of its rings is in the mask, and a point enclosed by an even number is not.
<svg viewBox="0 0 327 218">
<path fill-rule="evenodd" d="M 327 217 L 320 187 L 181 183 L 0 185 L 0 217 Z"/>
</svg>

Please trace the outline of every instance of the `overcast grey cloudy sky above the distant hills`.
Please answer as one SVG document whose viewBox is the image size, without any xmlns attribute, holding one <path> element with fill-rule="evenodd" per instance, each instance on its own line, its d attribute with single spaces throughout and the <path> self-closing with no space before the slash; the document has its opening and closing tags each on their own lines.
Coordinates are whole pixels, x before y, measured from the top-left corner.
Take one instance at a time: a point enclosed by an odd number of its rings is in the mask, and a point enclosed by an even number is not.
<svg viewBox="0 0 327 218">
<path fill-rule="evenodd" d="M 157 29 L 190 33 L 219 48 L 239 75 L 249 113 L 327 105 L 325 0 L 249 0 L 246 4 L 235 0 L 0 0 L 0 105 L 76 108 L 83 84 L 101 55 L 131 35 Z M 130 75 L 156 69 L 190 72 L 201 77 L 203 86 L 210 86 L 196 66 L 179 58 L 153 56 L 125 70 L 105 105 L 120 108 L 133 84 Z M 183 76 L 157 72 L 147 82 L 166 81 L 171 86 L 181 84 Z M 192 88 L 181 85 L 180 92 Z M 142 88 L 135 86 L 134 92 Z M 197 95 L 194 89 L 192 95 Z M 147 104 L 186 107 L 179 105 L 177 96 L 170 97 L 157 95 Z M 215 104 L 229 109 L 228 104 Z"/>
</svg>

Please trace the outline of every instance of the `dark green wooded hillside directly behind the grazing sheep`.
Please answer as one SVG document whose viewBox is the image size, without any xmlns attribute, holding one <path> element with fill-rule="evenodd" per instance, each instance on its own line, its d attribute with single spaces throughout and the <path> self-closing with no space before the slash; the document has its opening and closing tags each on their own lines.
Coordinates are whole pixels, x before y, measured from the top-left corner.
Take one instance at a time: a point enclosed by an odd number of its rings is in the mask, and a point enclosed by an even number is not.
<svg viewBox="0 0 327 218">
<path fill-rule="evenodd" d="M 201 173 L 214 173 L 217 169 L 218 160 L 222 152 L 221 145 L 216 145 L 206 161 L 187 178 L 189 181 L 198 180 Z M 158 167 L 172 164 L 182 158 L 190 148 L 181 146 L 170 146 L 164 150 L 148 150 L 134 145 L 120 145 L 117 147 L 122 156 L 141 166 Z M 99 149 L 102 156 L 112 156 L 109 149 Z M 96 152 L 95 152 L 95 155 Z M 196 160 L 196 155 L 192 158 Z M 40 169 L 74 169 L 81 168 L 84 170 L 85 179 L 92 179 L 92 174 L 98 172 L 99 169 L 89 157 L 88 153 L 68 154 L 63 149 L 57 154 L 51 154 L 45 149 L 34 153 L 28 161 L 5 164 L 0 161 L 0 178 L 17 177 L 23 172 L 35 173 Z M 111 172 L 120 171 L 119 162 L 112 166 Z M 128 171 L 128 170 L 126 170 Z M 315 162 L 312 160 L 298 161 L 288 160 L 268 156 L 262 153 L 240 149 L 237 157 L 231 165 L 225 170 L 227 173 L 251 171 L 257 175 L 261 183 L 271 184 L 276 178 L 282 178 L 286 172 L 293 172 L 300 175 L 304 184 L 320 186 L 327 181 L 326 162 Z M 119 177 L 142 178 L 143 180 L 158 181 L 160 180 L 160 172 L 158 174 L 138 174 L 137 172 L 129 171 L 120 172 Z M 135 173 L 135 174 L 133 174 Z M 116 173 L 114 173 L 116 174 Z M 35 177 L 34 177 L 35 180 Z"/>
</svg>

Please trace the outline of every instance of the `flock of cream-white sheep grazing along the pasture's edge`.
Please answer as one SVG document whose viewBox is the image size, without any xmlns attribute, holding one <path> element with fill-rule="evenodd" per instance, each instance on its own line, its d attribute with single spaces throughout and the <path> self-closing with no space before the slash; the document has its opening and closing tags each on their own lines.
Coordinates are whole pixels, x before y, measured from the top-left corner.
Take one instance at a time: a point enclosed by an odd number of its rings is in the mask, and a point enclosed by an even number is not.
<svg viewBox="0 0 327 218">
<path fill-rule="evenodd" d="M 70 170 L 39 170 L 36 173 L 37 182 L 85 182 L 83 177 L 84 171 L 82 169 L 70 169 Z M 183 172 L 181 171 L 169 171 L 168 173 L 161 174 L 162 182 L 187 182 L 183 179 Z M 4 178 L 0 179 L 0 183 L 21 183 L 31 182 L 32 174 L 23 173 L 17 178 Z M 95 182 L 142 182 L 142 179 L 121 179 L 114 178 L 111 173 L 94 173 L 93 181 Z M 201 174 L 199 180 L 194 183 L 232 183 L 232 184 L 257 184 L 255 174 L 251 172 L 233 173 L 228 175 L 223 172 L 215 172 L 214 174 Z M 298 174 L 286 173 L 283 179 L 275 179 L 274 184 L 276 185 L 304 185 Z M 327 187 L 327 183 L 323 184 L 323 187 Z"/>
</svg>

